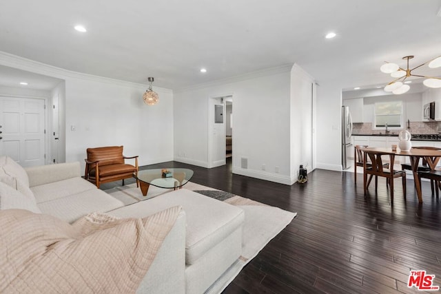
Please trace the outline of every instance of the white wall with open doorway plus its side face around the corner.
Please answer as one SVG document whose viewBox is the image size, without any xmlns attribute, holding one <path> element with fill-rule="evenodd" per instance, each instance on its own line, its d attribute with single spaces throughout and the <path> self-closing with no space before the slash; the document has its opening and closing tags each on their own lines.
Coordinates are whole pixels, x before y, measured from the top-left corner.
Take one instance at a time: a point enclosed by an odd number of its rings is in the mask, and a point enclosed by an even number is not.
<svg viewBox="0 0 441 294">
<path fill-rule="evenodd" d="M 233 172 L 291 185 L 300 164 L 309 163 L 311 167 L 311 83 L 312 78 L 294 65 L 230 83 L 176 92 L 174 109 L 179 111 L 174 121 L 175 160 L 208 166 L 209 97 L 232 93 Z M 246 169 L 241 167 L 242 158 L 247 159 Z"/>
</svg>

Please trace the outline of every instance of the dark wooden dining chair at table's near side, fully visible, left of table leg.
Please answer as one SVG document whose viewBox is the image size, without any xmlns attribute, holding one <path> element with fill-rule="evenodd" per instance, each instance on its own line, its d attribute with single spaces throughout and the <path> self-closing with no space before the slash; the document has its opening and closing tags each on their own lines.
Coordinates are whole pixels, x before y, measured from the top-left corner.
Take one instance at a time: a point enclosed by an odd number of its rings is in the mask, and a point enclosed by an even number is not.
<svg viewBox="0 0 441 294">
<path fill-rule="evenodd" d="M 402 178 L 402 193 L 404 199 L 406 198 L 406 172 L 403 170 L 393 169 L 393 162 L 395 161 L 395 154 L 390 154 L 382 151 L 373 151 L 373 150 L 364 150 L 364 160 L 365 165 L 363 167 L 363 182 L 365 186 L 365 195 L 367 192 L 367 188 L 369 187 L 369 182 L 367 182 L 367 175 L 376 176 L 375 180 L 375 190 L 377 191 L 378 186 L 378 177 L 386 178 L 387 184 L 389 184 L 391 190 L 391 203 L 393 203 L 393 180 L 395 178 Z M 389 157 L 389 168 L 384 168 L 382 162 L 382 156 Z M 367 158 L 371 160 L 371 167 L 367 165 Z"/>
</svg>

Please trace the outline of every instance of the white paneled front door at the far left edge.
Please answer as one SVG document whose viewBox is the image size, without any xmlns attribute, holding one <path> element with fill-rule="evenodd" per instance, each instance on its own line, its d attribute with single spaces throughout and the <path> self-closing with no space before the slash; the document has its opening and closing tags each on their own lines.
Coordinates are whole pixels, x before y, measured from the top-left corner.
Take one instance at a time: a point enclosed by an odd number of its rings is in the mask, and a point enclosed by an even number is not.
<svg viewBox="0 0 441 294">
<path fill-rule="evenodd" d="M 0 155 L 22 167 L 45 164 L 44 100 L 0 97 Z"/>
</svg>

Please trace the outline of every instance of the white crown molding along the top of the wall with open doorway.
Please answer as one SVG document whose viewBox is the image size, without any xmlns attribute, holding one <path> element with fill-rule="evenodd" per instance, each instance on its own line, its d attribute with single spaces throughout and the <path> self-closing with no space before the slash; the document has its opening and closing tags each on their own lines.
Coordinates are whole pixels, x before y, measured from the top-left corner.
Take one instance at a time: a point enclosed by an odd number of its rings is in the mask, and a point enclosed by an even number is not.
<svg viewBox="0 0 441 294">
<path fill-rule="evenodd" d="M 286 64 L 286 65 L 280 65 L 277 67 L 269 67 L 265 70 L 258 70 L 256 72 L 249 72 L 247 74 L 240 74 L 238 76 L 231 76 L 229 78 L 221 78 L 216 81 L 211 81 L 207 83 L 201 83 L 197 85 L 192 85 L 188 87 L 182 87 L 175 89 L 174 92 L 187 92 L 187 91 L 193 91 L 193 90 L 200 90 L 207 87 L 216 87 L 218 85 L 225 85 L 227 83 L 235 83 L 240 81 L 246 81 L 252 78 L 260 78 L 261 76 L 269 76 L 271 74 L 280 74 L 283 72 L 290 72 L 291 68 L 293 67 L 293 64 Z"/>
</svg>

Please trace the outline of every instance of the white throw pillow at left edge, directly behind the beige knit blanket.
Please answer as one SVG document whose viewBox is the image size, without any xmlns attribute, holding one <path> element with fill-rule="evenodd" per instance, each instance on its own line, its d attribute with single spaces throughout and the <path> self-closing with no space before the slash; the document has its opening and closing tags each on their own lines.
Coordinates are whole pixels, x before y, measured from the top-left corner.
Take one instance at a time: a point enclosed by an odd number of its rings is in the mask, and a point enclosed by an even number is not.
<svg viewBox="0 0 441 294">
<path fill-rule="evenodd" d="M 41 213 L 35 198 L 32 200 L 20 191 L 0 182 L 0 210 L 5 209 L 26 209 L 34 213 Z"/>
</svg>

